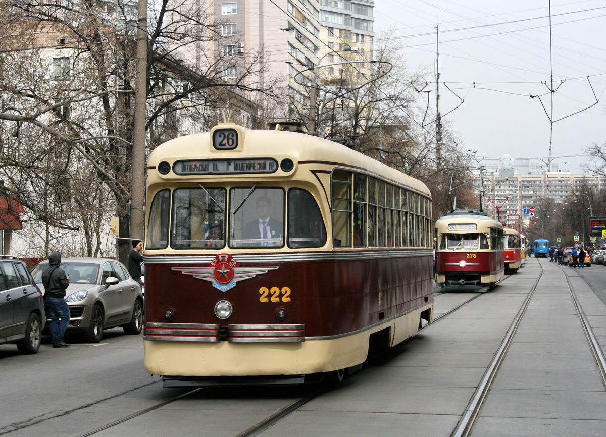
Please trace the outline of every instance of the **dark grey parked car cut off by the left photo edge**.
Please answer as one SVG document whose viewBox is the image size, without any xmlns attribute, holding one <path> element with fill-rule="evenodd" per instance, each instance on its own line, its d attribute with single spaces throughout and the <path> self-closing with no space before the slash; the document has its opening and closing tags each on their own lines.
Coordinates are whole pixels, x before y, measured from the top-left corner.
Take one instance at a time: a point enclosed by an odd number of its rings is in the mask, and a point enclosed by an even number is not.
<svg viewBox="0 0 606 437">
<path fill-rule="evenodd" d="M 16 343 L 21 353 L 37 353 L 44 320 L 42 292 L 25 263 L 0 255 L 0 344 Z"/>
</svg>

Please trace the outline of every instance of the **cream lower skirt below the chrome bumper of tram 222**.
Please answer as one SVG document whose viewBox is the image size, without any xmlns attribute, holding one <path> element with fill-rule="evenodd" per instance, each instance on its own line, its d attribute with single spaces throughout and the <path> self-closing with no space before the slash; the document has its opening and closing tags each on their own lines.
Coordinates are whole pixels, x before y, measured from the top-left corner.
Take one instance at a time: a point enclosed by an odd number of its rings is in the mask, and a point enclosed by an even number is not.
<svg viewBox="0 0 606 437">
<path fill-rule="evenodd" d="M 368 336 L 391 326 L 393 344 L 414 335 L 422 310 L 348 337 L 302 343 L 194 343 L 144 340 L 145 369 L 152 375 L 304 375 L 364 363 Z"/>
</svg>

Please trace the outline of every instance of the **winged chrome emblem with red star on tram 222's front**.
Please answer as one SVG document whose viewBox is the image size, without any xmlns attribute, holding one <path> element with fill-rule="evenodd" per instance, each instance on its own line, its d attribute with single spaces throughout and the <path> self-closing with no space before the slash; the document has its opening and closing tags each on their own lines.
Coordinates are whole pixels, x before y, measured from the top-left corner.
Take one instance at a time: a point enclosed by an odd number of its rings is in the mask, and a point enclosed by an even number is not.
<svg viewBox="0 0 606 437">
<path fill-rule="evenodd" d="M 278 267 L 240 267 L 230 254 L 219 254 L 208 267 L 173 267 L 171 270 L 184 275 L 192 275 L 213 283 L 213 287 L 226 292 L 236 286 L 236 282 L 254 278 L 256 275 L 277 270 Z"/>
</svg>

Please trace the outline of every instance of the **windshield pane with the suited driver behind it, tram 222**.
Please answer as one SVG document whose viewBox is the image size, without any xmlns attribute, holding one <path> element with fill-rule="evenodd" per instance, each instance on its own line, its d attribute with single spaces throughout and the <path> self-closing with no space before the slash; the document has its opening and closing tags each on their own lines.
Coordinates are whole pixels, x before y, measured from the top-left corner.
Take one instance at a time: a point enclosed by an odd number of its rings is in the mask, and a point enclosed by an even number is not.
<svg viewBox="0 0 606 437">
<path fill-rule="evenodd" d="M 230 190 L 232 248 L 284 246 L 284 190 L 253 186 Z"/>
</svg>

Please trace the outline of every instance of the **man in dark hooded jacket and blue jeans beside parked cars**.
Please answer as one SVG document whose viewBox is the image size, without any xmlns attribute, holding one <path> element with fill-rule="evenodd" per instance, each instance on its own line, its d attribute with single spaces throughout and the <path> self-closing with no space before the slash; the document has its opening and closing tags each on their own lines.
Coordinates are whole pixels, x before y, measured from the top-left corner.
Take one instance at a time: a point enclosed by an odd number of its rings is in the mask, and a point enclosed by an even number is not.
<svg viewBox="0 0 606 437">
<path fill-rule="evenodd" d="M 53 347 L 70 347 L 63 340 L 65 329 L 70 321 L 70 307 L 65 302 L 65 290 L 70 284 L 70 277 L 65 275 L 59 265 L 61 265 L 61 254 L 53 252 L 48 257 L 48 267 L 42 272 L 44 302 L 50 315 L 50 340 Z"/>
</svg>

